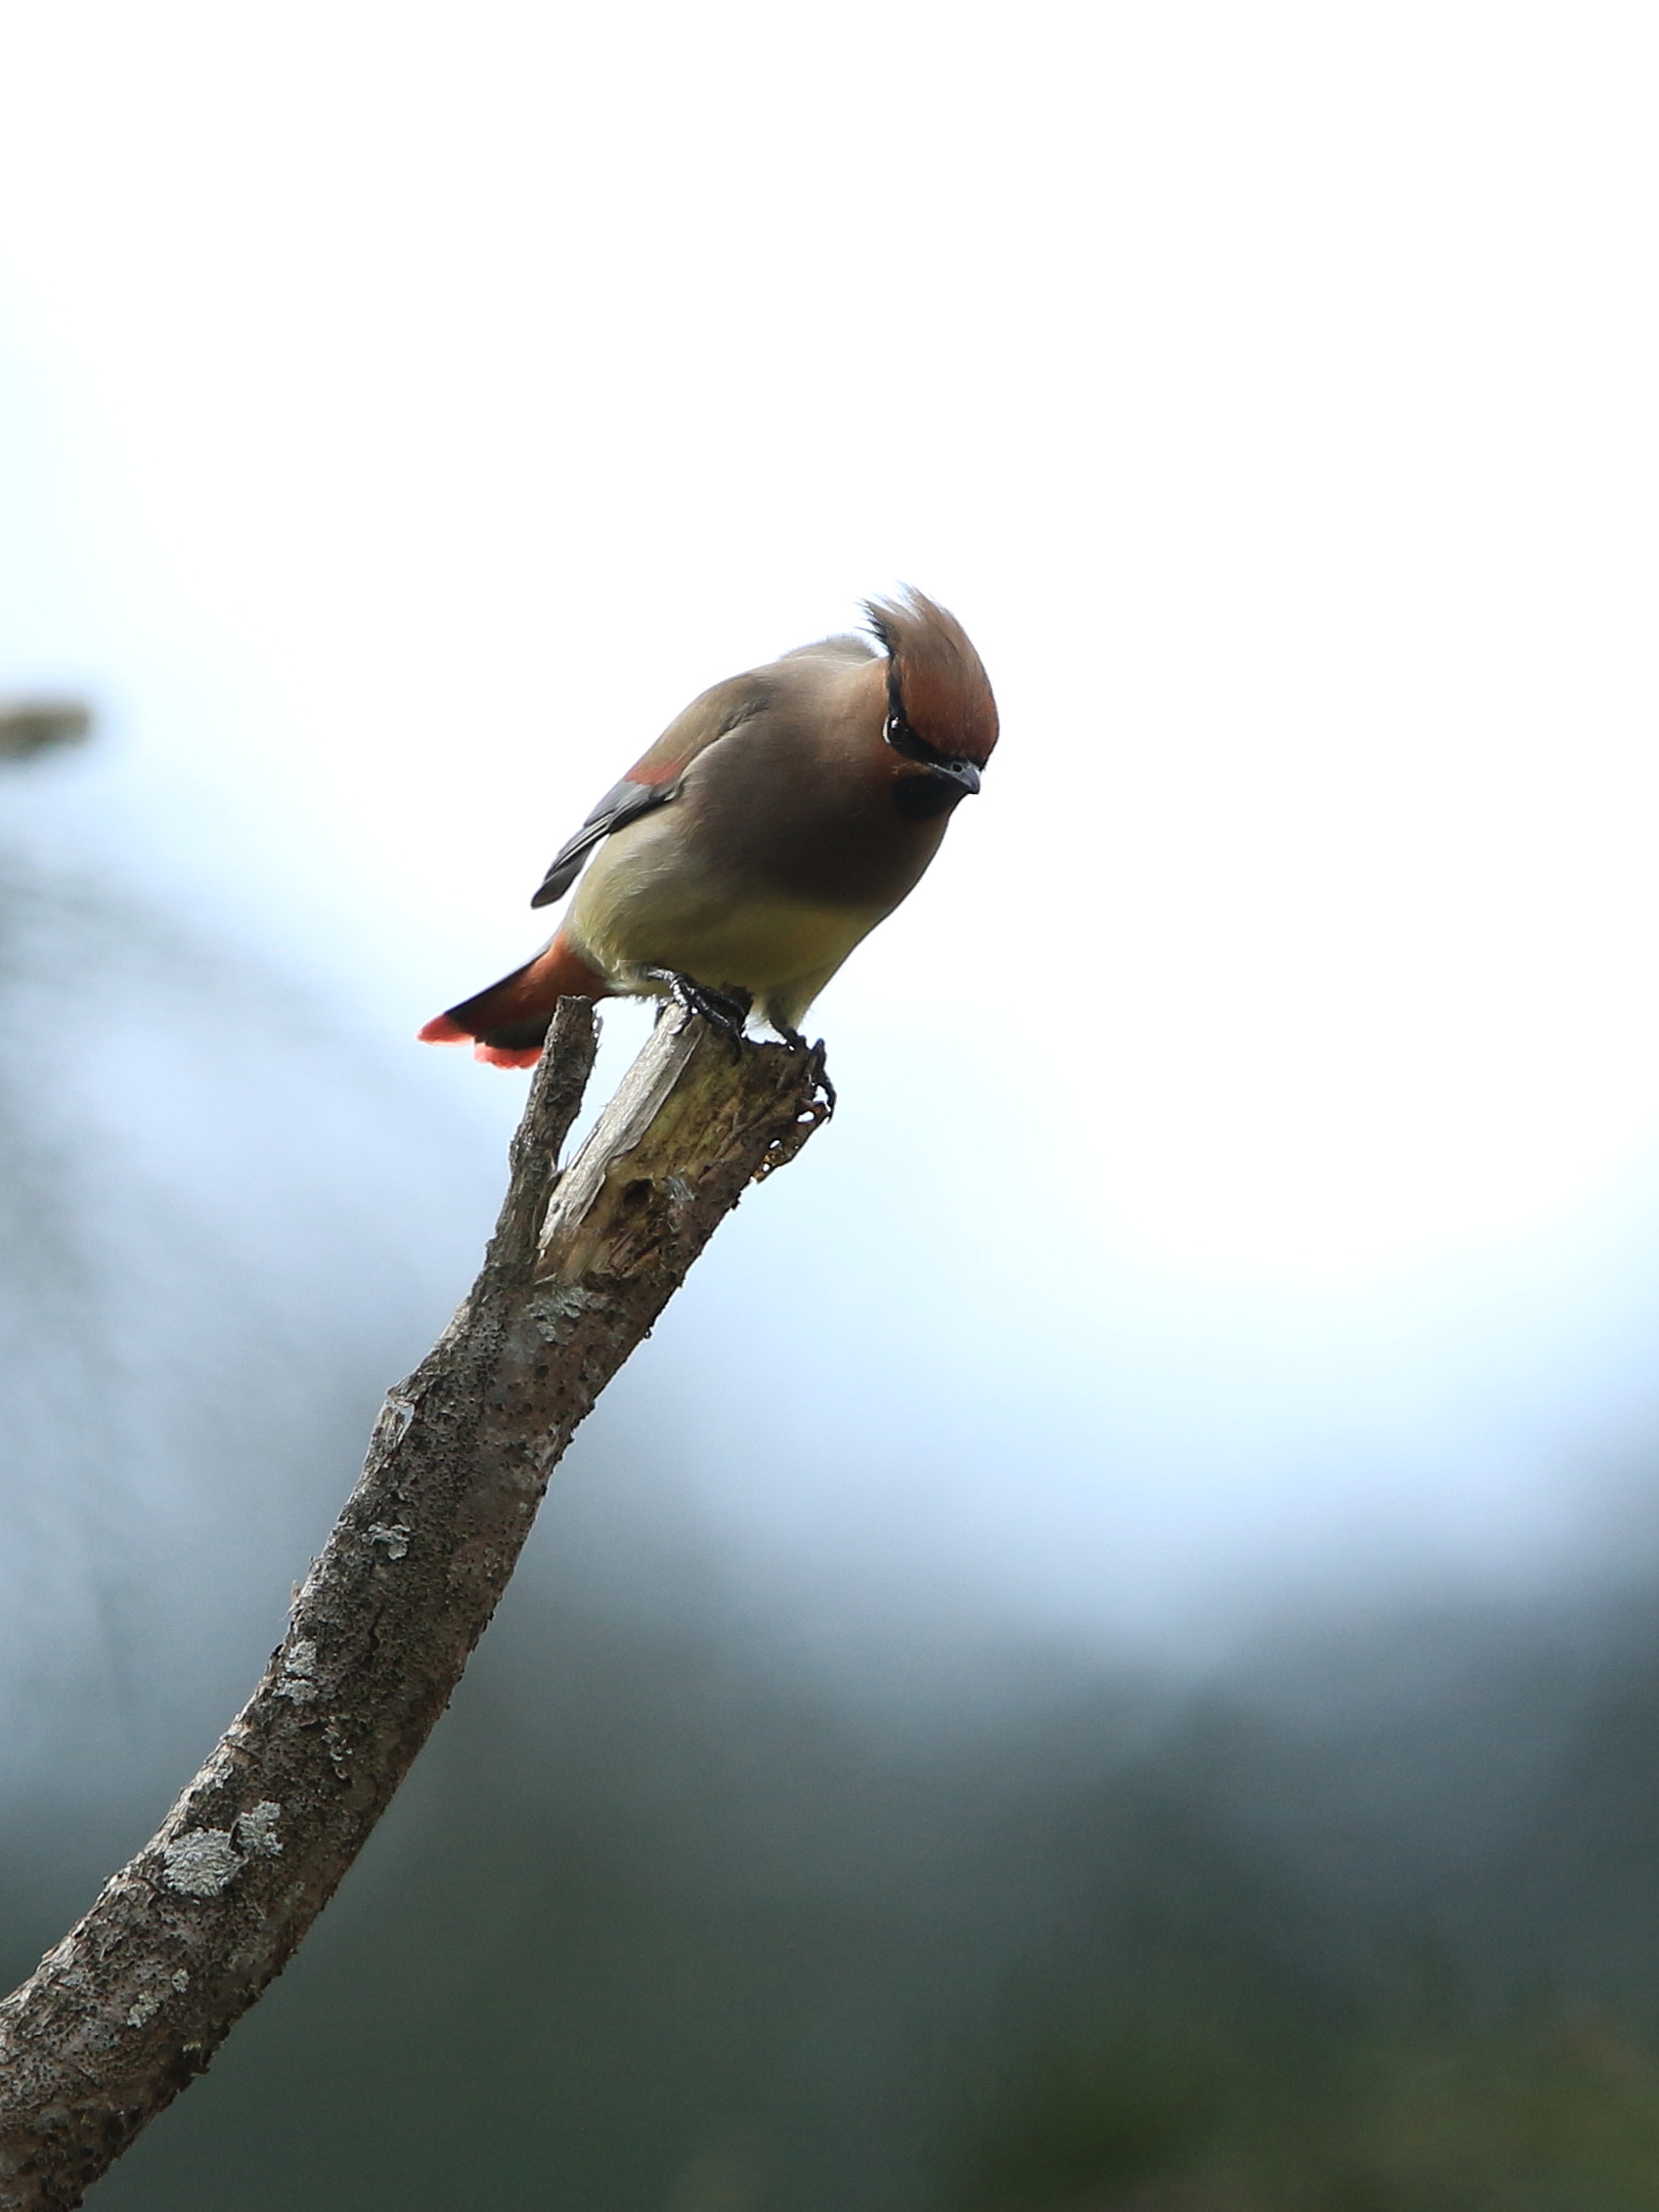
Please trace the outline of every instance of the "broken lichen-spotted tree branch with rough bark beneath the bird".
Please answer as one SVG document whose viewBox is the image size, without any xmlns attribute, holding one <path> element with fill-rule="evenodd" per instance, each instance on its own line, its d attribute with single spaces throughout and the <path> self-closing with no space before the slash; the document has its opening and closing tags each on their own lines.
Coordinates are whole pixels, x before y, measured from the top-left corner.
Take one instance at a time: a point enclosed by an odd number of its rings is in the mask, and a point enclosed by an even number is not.
<svg viewBox="0 0 1659 2212">
<path fill-rule="evenodd" d="M 0 2208 L 77 2205 L 281 1973 L 507 1588 L 546 1478 L 743 1188 L 827 1113 L 818 1055 L 666 1011 L 573 1166 L 560 1006 L 471 1296 L 387 1394 L 265 1677 L 161 1829 L 0 2004 Z"/>
</svg>

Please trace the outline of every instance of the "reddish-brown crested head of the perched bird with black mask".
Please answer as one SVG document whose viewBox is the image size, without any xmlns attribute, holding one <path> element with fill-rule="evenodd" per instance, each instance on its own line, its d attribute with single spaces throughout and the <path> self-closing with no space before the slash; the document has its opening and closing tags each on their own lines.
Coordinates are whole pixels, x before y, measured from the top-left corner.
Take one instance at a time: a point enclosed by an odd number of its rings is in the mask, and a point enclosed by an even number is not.
<svg viewBox="0 0 1659 2212">
<path fill-rule="evenodd" d="M 887 653 L 883 739 L 896 754 L 894 803 L 929 821 L 978 792 L 998 741 L 998 703 L 962 624 L 920 591 L 867 599 L 865 613 Z"/>
</svg>

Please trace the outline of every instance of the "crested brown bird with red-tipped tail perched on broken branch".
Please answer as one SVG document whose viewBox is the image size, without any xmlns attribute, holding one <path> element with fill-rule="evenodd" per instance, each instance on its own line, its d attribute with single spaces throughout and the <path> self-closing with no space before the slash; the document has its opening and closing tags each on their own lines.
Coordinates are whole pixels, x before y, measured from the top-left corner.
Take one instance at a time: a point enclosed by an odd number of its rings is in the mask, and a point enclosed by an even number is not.
<svg viewBox="0 0 1659 2212">
<path fill-rule="evenodd" d="M 902 586 L 867 633 L 796 646 L 710 686 L 553 858 L 555 936 L 449 1006 L 425 1044 L 533 1066 L 562 998 L 672 995 L 734 1040 L 790 1046 L 847 953 L 916 887 L 998 741 L 967 630 Z"/>
</svg>

